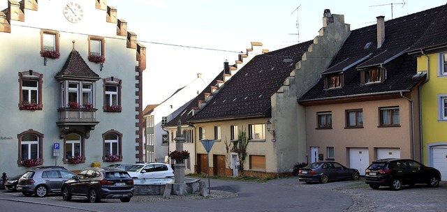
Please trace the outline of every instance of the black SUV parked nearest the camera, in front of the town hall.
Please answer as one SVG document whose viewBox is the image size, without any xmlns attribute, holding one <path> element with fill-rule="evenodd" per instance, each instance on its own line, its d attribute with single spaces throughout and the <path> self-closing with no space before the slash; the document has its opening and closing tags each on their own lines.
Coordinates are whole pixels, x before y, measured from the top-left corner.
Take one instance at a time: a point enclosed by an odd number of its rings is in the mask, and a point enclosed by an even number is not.
<svg viewBox="0 0 447 212">
<path fill-rule="evenodd" d="M 61 187 L 62 199 L 87 197 L 89 202 L 101 199 L 119 199 L 130 202 L 133 197 L 133 179 L 123 169 L 102 169 L 89 167 L 83 169 Z"/>
</svg>

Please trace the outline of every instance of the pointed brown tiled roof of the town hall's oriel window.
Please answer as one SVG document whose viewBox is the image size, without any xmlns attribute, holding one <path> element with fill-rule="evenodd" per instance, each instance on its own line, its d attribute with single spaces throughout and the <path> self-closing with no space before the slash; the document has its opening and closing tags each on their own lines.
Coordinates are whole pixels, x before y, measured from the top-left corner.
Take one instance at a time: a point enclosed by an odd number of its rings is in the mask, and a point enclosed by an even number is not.
<svg viewBox="0 0 447 212">
<path fill-rule="evenodd" d="M 79 52 L 76 50 L 71 51 L 64 67 L 56 74 L 56 78 L 60 77 L 100 79 L 99 75 L 94 73 L 94 71 L 87 66 L 87 63 L 85 63 L 82 56 L 80 56 Z"/>
</svg>

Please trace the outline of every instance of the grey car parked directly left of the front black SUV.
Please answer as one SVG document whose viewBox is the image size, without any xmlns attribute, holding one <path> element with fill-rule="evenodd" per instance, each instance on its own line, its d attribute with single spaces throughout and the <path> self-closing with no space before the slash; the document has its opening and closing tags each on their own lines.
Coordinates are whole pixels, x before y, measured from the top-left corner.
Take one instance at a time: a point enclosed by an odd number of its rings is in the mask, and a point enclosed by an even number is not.
<svg viewBox="0 0 447 212">
<path fill-rule="evenodd" d="M 45 197 L 48 193 L 60 193 L 61 185 L 76 174 L 65 167 L 41 166 L 30 169 L 20 177 L 17 190 L 29 197 Z"/>
</svg>

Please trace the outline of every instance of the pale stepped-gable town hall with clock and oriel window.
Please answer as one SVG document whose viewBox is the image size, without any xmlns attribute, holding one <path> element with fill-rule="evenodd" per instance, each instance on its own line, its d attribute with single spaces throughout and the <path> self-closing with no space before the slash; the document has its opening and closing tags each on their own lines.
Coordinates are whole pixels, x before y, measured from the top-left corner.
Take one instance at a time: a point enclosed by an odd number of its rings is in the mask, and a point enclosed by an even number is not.
<svg viewBox="0 0 447 212">
<path fill-rule="evenodd" d="M 146 48 L 116 8 L 9 0 L 0 43 L 1 172 L 142 161 Z"/>
</svg>

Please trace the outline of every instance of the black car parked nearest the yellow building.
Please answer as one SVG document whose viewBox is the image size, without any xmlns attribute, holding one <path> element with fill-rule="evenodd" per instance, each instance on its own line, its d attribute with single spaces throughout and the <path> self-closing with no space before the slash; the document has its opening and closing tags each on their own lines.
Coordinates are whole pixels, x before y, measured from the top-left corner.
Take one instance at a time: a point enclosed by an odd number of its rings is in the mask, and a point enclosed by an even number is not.
<svg viewBox="0 0 447 212">
<path fill-rule="evenodd" d="M 400 190 L 402 185 L 413 186 L 424 183 L 430 187 L 438 187 L 441 172 L 433 167 L 427 167 L 411 159 L 381 159 L 372 162 L 365 169 L 365 183 L 377 189 L 380 186 L 390 186 Z"/>
</svg>

